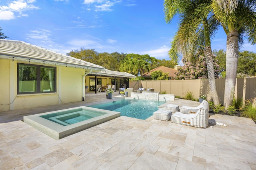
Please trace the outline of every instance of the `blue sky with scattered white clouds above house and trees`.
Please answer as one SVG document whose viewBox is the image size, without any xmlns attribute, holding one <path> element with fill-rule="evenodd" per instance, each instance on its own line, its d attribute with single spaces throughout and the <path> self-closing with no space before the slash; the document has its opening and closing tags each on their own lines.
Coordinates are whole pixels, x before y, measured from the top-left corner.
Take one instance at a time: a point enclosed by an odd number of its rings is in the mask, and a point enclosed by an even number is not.
<svg viewBox="0 0 256 170">
<path fill-rule="evenodd" d="M 0 27 L 8 39 L 66 54 L 72 49 L 148 54 L 170 59 L 178 18 L 167 24 L 163 0 L 0 0 Z M 226 51 L 220 28 L 212 49 Z M 256 47 L 245 42 L 241 50 Z"/>
</svg>

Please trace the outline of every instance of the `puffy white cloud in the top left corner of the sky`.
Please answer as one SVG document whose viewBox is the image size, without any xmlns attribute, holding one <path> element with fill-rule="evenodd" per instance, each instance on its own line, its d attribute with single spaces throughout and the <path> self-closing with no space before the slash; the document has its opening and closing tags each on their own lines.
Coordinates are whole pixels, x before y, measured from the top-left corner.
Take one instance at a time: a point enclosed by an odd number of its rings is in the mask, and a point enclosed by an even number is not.
<svg viewBox="0 0 256 170">
<path fill-rule="evenodd" d="M 33 2 L 35 0 L 16 0 L 12 1 L 8 6 L 0 6 L 0 20 L 12 20 L 15 18 L 15 13 L 18 13 L 16 14 L 18 17 L 28 16 L 28 14 L 23 14 L 23 12 L 39 9 L 32 4 Z"/>
</svg>

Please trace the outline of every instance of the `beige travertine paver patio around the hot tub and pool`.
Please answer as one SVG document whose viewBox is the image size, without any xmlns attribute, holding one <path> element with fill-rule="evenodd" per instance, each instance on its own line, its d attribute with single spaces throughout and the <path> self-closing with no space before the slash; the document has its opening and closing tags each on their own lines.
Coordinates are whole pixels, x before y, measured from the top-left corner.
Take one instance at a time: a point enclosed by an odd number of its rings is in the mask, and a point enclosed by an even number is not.
<svg viewBox="0 0 256 170">
<path fill-rule="evenodd" d="M 0 169 L 256 169 L 256 125 L 248 118 L 211 115 L 211 122 L 227 127 L 199 129 L 121 116 L 58 141 L 21 121 L 23 115 L 112 101 L 86 99 L 0 112 Z M 199 105 L 180 99 L 168 103 Z"/>
</svg>

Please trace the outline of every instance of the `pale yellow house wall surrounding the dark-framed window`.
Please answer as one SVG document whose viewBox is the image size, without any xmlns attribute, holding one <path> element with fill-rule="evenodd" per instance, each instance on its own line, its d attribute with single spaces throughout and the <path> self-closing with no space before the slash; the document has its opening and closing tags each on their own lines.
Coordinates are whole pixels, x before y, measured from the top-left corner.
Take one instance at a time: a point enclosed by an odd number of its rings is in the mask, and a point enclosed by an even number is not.
<svg viewBox="0 0 256 170">
<path fill-rule="evenodd" d="M 82 101 L 84 69 L 56 66 L 56 92 L 17 94 L 17 64 L 0 59 L 0 111 Z"/>
</svg>

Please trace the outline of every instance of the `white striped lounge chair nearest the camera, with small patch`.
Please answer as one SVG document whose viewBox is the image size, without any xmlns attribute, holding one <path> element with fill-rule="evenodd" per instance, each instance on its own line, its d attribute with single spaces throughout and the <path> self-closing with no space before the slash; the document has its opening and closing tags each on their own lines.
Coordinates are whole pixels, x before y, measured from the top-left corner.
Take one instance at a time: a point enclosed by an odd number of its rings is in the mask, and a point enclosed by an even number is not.
<svg viewBox="0 0 256 170">
<path fill-rule="evenodd" d="M 195 114 L 184 114 L 176 112 L 171 117 L 172 123 L 187 125 L 199 128 L 206 128 L 208 125 L 209 112 L 207 107 L 201 107 Z"/>
</svg>

